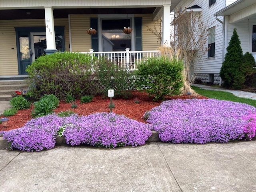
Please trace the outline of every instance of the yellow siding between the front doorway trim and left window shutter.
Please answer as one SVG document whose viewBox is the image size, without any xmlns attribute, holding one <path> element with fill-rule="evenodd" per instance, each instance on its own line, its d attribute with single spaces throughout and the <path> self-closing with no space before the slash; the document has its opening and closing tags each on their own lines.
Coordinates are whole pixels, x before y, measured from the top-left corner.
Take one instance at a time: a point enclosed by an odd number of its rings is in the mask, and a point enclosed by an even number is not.
<svg viewBox="0 0 256 192">
<path fill-rule="evenodd" d="M 72 52 L 89 52 L 91 36 L 86 33 L 90 28 L 90 16 L 70 15 Z"/>
</svg>

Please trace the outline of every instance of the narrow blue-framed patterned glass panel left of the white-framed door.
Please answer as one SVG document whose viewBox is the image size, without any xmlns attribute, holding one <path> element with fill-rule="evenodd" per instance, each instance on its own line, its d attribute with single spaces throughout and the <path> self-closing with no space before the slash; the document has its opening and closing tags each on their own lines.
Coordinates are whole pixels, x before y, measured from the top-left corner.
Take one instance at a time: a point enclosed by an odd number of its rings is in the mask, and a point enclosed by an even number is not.
<svg viewBox="0 0 256 192">
<path fill-rule="evenodd" d="M 26 74 L 26 67 L 30 65 L 30 48 L 28 35 L 19 37 L 20 41 L 20 72 Z"/>
</svg>

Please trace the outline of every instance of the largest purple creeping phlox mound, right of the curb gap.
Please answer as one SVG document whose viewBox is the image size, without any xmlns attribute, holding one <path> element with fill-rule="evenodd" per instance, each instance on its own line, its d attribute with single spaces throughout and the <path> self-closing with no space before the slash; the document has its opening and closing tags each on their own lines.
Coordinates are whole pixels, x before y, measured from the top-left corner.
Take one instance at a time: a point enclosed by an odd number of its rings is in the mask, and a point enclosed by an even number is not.
<svg viewBox="0 0 256 192">
<path fill-rule="evenodd" d="M 164 142 L 228 142 L 251 139 L 256 131 L 256 108 L 238 102 L 169 100 L 145 115 Z"/>
</svg>

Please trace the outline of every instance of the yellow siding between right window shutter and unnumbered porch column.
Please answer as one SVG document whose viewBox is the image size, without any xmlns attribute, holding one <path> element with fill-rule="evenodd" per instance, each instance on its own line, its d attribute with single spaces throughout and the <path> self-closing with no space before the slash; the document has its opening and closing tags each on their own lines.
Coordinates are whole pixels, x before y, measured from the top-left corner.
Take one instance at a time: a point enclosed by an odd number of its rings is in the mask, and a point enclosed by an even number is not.
<svg viewBox="0 0 256 192">
<path fill-rule="evenodd" d="M 153 22 L 152 14 L 136 14 L 135 17 L 142 17 L 142 50 L 157 50 L 160 47 L 161 42 L 156 35 L 148 30 L 148 28 L 154 29 L 154 27 L 156 27 L 156 29 L 159 28 L 160 32 L 158 22 Z"/>
</svg>

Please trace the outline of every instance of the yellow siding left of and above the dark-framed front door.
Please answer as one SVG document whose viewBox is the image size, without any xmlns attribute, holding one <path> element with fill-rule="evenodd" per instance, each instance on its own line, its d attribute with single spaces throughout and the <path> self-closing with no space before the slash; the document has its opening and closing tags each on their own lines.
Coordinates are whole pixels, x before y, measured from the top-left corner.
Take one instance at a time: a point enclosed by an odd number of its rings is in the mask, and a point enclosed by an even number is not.
<svg viewBox="0 0 256 192">
<path fill-rule="evenodd" d="M 69 50 L 68 19 L 55 19 L 55 26 L 65 26 L 65 45 Z M 15 27 L 45 26 L 44 19 L 0 20 L 0 75 L 18 75 Z M 14 49 L 12 49 L 14 48 Z"/>
</svg>

